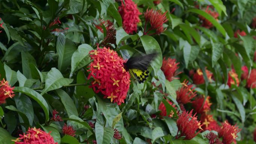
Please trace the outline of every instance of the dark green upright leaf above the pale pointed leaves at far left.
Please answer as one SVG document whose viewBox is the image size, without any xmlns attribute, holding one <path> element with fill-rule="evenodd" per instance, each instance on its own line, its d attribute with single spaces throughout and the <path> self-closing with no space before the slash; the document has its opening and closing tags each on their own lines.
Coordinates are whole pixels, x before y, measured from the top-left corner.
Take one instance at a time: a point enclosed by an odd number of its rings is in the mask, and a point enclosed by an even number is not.
<svg viewBox="0 0 256 144">
<path fill-rule="evenodd" d="M 31 78 L 31 73 L 30 73 L 30 67 L 29 64 L 32 63 L 36 65 L 36 60 L 30 53 L 28 52 L 21 52 L 21 58 L 22 58 L 22 72 L 25 77 Z"/>
</svg>

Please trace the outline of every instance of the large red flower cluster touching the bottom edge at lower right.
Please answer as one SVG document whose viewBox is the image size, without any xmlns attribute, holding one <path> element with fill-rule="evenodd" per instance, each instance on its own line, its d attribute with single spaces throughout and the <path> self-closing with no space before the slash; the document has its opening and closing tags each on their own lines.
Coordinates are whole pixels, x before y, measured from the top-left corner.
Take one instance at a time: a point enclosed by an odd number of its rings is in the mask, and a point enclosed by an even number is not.
<svg viewBox="0 0 256 144">
<path fill-rule="evenodd" d="M 222 123 L 221 129 L 218 131 L 219 138 L 222 138 L 223 144 L 231 144 L 235 138 L 237 137 L 237 133 L 240 132 L 241 129 L 238 128 L 237 125 L 231 125 L 226 120 L 224 123 Z"/>
</svg>

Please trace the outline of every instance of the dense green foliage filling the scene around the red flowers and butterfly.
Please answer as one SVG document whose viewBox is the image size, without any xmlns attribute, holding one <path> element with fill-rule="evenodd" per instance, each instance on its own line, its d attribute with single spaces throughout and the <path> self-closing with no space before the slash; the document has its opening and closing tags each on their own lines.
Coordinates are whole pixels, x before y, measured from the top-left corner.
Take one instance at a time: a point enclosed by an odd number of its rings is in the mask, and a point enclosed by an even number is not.
<svg viewBox="0 0 256 144">
<path fill-rule="evenodd" d="M 158 5 L 153 0 L 134 2 L 141 13 L 148 7 L 168 11 L 164 33 L 143 35 L 143 15 L 140 15 L 138 32 L 125 33 L 118 12 L 120 1 L 0 0 L 0 23 L 3 23 L 0 74 L 1 79 L 15 86 L 14 98 L 6 99 L 6 104 L 0 107 L 0 143 L 12 143 L 10 140 L 34 126 L 52 131 L 55 142 L 67 144 L 87 144 L 92 140 L 97 140 L 98 144 L 208 143 L 203 134 L 190 141 L 175 140 L 177 117 L 151 117 L 152 114 L 159 116 L 158 106 L 165 101 L 164 97 L 178 105 L 175 91 L 185 79 L 193 83 L 189 70 L 197 68 L 202 69 L 205 84 L 196 85 L 196 91 L 198 95 L 211 97 L 214 118 L 219 123 L 227 119 L 242 129 L 238 133 L 238 144 L 254 143 L 256 91 L 246 88 L 245 80 L 232 88 L 226 84 L 232 67 L 239 79 L 243 65 L 248 67 L 249 73 L 256 68 L 253 61 L 256 31 L 251 26 L 256 16 L 256 2 L 162 0 Z M 218 20 L 204 12 L 207 5 L 212 5 L 219 13 Z M 198 15 L 208 19 L 213 27 L 202 27 Z M 58 18 L 61 24 L 52 25 Z M 95 27 L 100 19 L 114 22 L 116 43 L 112 46 L 124 59 L 135 52 L 156 50 L 162 53 L 152 62 L 146 82 L 132 82 L 125 103 L 119 106 L 95 94 L 89 88 L 91 80 L 87 80 L 87 65 L 91 62 L 88 53 L 106 36 L 105 27 L 103 33 Z M 234 37 L 237 30 L 245 31 L 246 36 Z M 165 80 L 160 69 L 162 57 L 176 58 L 180 62 L 179 80 Z M 208 82 L 205 67 L 213 73 L 213 82 Z M 161 83 L 162 88 L 154 87 L 152 82 Z M 85 105 L 90 107 L 85 108 Z M 54 109 L 64 121 L 51 121 Z M 186 105 L 186 109 L 191 110 L 191 105 Z M 94 123 L 95 129 L 89 122 Z M 75 137 L 63 135 L 64 123 L 73 126 Z M 113 128 L 122 134 L 121 140 L 113 138 Z"/>
</svg>

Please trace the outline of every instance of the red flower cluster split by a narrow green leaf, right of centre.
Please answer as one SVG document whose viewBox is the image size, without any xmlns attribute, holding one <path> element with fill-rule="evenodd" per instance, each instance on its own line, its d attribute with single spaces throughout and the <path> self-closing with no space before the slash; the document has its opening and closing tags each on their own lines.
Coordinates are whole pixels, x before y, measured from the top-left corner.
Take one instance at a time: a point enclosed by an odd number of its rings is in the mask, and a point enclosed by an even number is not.
<svg viewBox="0 0 256 144">
<path fill-rule="evenodd" d="M 210 71 L 206 70 L 206 69 L 205 69 L 205 73 L 206 73 L 206 76 L 207 76 L 209 82 L 211 82 L 211 77 L 213 76 L 213 74 Z M 204 83 L 204 76 L 203 76 L 203 73 L 202 73 L 201 69 L 198 68 L 196 70 L 196 73 L 193 74 L 193 82 L 196 85 L 200 85 L 200 84 Z"/>
</svg>

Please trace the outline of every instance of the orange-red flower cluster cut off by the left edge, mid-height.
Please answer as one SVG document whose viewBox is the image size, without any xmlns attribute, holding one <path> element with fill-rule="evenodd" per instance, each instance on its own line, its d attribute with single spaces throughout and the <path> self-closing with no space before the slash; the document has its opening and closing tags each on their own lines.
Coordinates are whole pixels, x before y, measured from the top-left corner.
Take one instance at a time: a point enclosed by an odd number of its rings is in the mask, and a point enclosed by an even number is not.
<svg viewBox="0 0 256 144">
<path fill-rule="evenodd" d="M 6 98 L 13 98 L 13 89 L 14 87 L 11 87 L 8 81 L 4 79 L 0 81 L 0 104 L 4 104 Z"/>
</svg>

